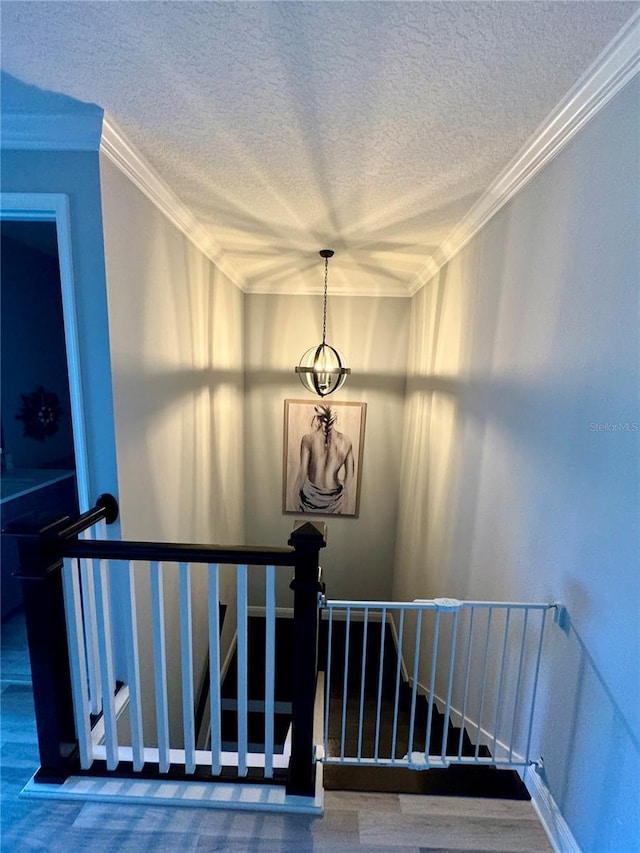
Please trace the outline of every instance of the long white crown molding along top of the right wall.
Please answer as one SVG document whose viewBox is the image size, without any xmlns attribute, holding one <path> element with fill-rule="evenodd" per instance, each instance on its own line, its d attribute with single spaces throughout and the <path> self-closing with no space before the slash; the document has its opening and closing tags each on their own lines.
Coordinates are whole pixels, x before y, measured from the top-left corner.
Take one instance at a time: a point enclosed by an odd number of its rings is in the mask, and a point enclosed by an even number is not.
<svg viewBox="0 0 640 853">
<path fill-rule="evenodd" d="M 409 286 L 413 296 L 640 72 L 640 11 L 547 116 Z"/>
</svg>

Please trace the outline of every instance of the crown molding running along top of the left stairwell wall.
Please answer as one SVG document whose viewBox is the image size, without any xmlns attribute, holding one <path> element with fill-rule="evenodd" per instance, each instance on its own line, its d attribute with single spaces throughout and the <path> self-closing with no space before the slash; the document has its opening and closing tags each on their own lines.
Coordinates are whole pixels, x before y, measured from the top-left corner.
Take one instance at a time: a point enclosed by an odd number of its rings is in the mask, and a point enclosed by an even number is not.
<svg viewBox="0 0 640 853">
<path fill-rule="evenodd" d="M 108 113 L 105 113 L 102 123 L 100 152 L 144 193 L 167 219 L 206 255 L 233 284 L 242 291 L 246 291 L 246 282 L 243 276 L 225 257 L 222 248 L 211 238 L 204 226 L 158 175 L 153 166 L 129 142 Z"/>
</svg>

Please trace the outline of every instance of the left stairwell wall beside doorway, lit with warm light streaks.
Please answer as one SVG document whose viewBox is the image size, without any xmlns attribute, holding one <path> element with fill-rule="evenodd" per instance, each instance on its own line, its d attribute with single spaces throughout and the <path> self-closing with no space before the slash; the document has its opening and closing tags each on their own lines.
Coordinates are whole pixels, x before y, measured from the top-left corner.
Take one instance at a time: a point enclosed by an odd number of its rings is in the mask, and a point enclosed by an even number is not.
<svg viewBox="0 0 640 853">
<path fill-rule="evenodd" d="M 101 178 L 123 538 L 241 544 L 243 294 L 106 157 Z M 192 572 L 198 679 L 207 650 L 206 567 Z M 165 567 L 165 580 L 177 736 L 177 566 Z M 234 583 L 235 572 L 225 571 L 227 633 Z M 141 655 L 151 660 L 148 579 L 140 572 L 136 594 Z M 142 675 L 151 697 L 151 668 Z M 154 725 L 149 715 L 145 738 Z"/>
</svg>

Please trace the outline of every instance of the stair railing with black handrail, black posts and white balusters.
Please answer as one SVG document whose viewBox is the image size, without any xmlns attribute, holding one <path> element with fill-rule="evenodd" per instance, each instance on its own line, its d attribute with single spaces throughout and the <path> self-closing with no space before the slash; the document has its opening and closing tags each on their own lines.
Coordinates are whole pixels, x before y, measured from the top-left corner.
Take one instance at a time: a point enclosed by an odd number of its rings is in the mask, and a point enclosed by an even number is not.
<svg viewBox="0 0 640 853">
<path fill-rule="evenodd" d="M 18 536 L 27 637 L 31 659 L 40 769 L 35 780 L 61 783 L 76 773 L 141 778 L 234 779 L 286 784 L 287 792 L 315 793 L 313 706 L 317 676 L 318 595 L 322 589 L 318 554 L 324 525 L 303 524 L 286 548 L 207 546 L 177 543 L 80 539 L 94 525 L 113 523 L 115 498 L 98 499 L 77 520 L 60 519 Z M 198 567 L 204 567 L 202 569 Z M 235 571 L 238 697 L 237 750 L 223 749 L 221 727 L 220 588 L 223 567 Z M 274 746 L 274 638 L 276 569 L 293 568 L 294 648 L 290 744 Z M 211 748 L 196 748 L 192 572 L 206 572 L 207 641 L 210 680 Z M 169 718 L 170 686 L 165 601 L 166 573 L 177 582 L 179 691 L 182 726 L 176 745 Z M 264 751 L 248 743 L 247 622 L 250 574 L 262 571 L 267 625 L 265 648 Z M 177 573 L 177 578 L 175 577 Z M 140 624 L 140 584 L 149 583 L 151 637 Z M 200 584 L 202 588 L 202 584 Z M 196 602 L 198 603 L 198 602 Z M 93 624 L 95 620 L 95 624 Z M 147 630 L 150 659 L 140 659 L 139 639 Z M 117 635 L 117 636 L 116 636 Z M 92 637 L 96 638 L 96 661 Z M 116 679 L 114 655 L 124 655 L 124 678 Z M 153 697 L 142 690 L 152 669 Z M 90 677 L 94 675 L 93 686 Z M 121 683 L 122 682 L 122 683 Z M 96 697 L 95 683 L 101 685 Z M 93 695 L 92 695 L 93 690 Z M 175 692 L 175 691 L 174 691 Z M 96 702 L 99 712 L 96 711 Z M 152 745 L 145 726 L 154 718 Z M 122 734 L 127 730 L 128 737 Z M 124 741 L 128 741 L 124 742 Z"/>
</svg>

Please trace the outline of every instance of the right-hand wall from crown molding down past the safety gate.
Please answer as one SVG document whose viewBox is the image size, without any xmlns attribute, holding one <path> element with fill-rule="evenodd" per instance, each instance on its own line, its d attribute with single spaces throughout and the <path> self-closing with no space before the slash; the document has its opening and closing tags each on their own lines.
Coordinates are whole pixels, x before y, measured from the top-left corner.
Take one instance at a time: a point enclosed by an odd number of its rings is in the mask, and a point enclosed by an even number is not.
<svg viewBox="0 0 640 853">
<path fill-rule="evenodd" d="M 638 89 L 411 316 L 394 593 L 568 607 L 535 748 L 585 851 L 640 844 Z"/>
</svg>

